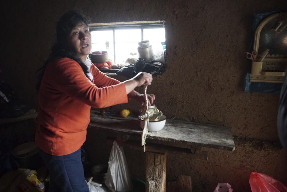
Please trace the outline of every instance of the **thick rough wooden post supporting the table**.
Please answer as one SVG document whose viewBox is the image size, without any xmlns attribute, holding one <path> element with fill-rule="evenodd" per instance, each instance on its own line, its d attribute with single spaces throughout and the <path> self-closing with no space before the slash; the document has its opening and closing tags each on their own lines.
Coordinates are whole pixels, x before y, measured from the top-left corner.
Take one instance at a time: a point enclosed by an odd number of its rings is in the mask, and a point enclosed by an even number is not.
<svg viewBox="0 0 287 192">
<path fill-rule="evenodd" d="M 165 192 L 166 154 L 146 152 L 146 192 Z"/>
</svg>

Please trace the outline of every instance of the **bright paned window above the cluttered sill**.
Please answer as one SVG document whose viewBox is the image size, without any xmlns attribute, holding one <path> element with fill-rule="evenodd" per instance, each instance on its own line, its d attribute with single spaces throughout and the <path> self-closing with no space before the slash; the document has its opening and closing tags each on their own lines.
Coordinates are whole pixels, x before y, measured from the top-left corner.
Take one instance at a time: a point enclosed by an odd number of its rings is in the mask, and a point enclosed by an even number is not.
<svg viewBox="0 0 287 192">
<path fill-rule="evenodd" d="M 149 40 L 154 54 L 165 45 L 164 22 L 119 22 L 90 25 L 92 52 L 108 51 L 115 63 L 124 62 L 137 53 L 138 42 Z"/>
</svg>

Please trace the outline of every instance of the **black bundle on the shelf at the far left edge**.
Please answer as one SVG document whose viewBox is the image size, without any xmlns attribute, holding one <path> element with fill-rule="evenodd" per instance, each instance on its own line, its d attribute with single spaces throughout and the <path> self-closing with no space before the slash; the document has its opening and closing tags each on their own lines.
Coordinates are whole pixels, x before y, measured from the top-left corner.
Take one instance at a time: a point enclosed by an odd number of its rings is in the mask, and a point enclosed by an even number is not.
<svg viewBox="0 0 287 192">
<path fill-rule="evenodd" d="M 0 82 L 0 118 L 15 118 L 28 112 L 29 106 L 17 98 L 15 91 L 4 81 Z"/>
</svg>

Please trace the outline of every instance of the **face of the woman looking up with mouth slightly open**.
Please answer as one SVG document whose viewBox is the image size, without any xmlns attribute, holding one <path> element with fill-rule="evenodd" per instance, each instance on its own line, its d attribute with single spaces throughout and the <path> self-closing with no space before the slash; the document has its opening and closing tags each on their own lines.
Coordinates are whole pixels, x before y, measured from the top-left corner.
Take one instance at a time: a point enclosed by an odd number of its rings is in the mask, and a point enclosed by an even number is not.
<svg viewBox="0 0 287 192">
<path fill-rule="evenodd" d="M 92 49 L 91 33 L 88 26 L 85 23 L 76 25 L 68 35 L 68 43 L 85 62 Z"/>
</svg>

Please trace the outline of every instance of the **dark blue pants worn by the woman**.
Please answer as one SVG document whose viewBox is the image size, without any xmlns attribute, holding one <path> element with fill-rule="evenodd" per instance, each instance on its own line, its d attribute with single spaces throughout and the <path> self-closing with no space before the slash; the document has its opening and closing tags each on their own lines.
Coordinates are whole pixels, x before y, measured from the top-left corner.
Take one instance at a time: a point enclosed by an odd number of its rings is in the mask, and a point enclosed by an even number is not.
<svg viewBox="0 0 287 192">
<path fill-rule="evenodd" d="M 39 149 L 50 173 L 48 192 L 89 192 L 81 161 L 81 149 L 62 156 L 50 155 Z"/>
</svg>

